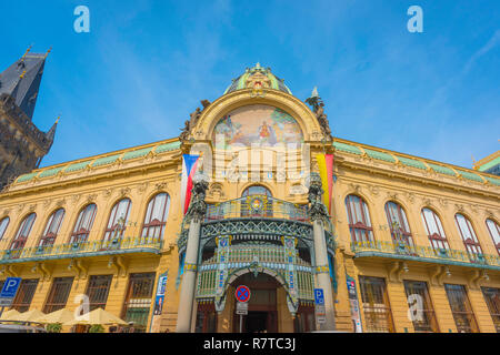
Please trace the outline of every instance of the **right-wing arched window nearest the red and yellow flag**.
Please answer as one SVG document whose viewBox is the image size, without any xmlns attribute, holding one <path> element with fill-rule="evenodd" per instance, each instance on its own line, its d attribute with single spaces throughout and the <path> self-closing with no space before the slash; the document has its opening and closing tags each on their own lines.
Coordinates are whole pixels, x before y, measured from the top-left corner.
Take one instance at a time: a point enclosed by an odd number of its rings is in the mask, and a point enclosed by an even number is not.
<svg viewBox="0 0 500 355">
<path fill-rule="evenodd" d="M 349 217 L 349 230 L 353 242 L 373 242 L 373 229 L 370 213 L 364 201 L 357 195 L 346 197 L 346 209 Z"/>
</svg>

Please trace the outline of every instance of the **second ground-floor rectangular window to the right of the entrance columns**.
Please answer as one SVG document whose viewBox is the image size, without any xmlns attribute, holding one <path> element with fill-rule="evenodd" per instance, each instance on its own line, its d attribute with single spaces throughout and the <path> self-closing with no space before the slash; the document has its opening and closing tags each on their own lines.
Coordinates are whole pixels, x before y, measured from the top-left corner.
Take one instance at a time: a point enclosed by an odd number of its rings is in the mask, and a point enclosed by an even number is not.
<svg viewBox="0 0 500 355">
<path fill-rule="evenodd" d="M 430 300 L 427 283 L 420 281 L 404 280 L 408 306 L 413 315 L 413 327 L 416 333 L 438 333 L 438 322 Z M 411 304 L 410 304 L 411 303 Z"/>
</svg>

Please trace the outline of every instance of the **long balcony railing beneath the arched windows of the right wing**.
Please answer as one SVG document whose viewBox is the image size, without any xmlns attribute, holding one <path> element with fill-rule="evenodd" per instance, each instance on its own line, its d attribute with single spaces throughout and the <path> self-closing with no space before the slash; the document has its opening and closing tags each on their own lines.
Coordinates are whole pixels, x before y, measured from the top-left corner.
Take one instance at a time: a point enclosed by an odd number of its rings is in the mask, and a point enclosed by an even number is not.
<svg viewBox="0 0 500 355">
<path fill-rule="evenodd" d="M 500 267 L 500 256 L 468 253 L 450 248 L 434 248 L 432 246 L 409 245 L 403 242 L 352 242 L 351 248 L 356 254 L 374 252 L 387 254 L 396 258 L 416 260 L 434 263 L 468 263 L 474 267 Z M 382 255 L 380 255 L 382 256 Z"/>
</svg>

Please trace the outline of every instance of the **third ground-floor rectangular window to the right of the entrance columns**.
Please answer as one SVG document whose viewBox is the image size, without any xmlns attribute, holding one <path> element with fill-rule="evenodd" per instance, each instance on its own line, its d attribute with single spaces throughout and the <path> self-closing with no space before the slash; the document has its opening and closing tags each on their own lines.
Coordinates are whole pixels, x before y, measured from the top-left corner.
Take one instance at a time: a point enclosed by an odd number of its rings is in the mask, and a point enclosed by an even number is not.
<svg viewBox="0 0 500 355">
<path fill-rule="evenodd" d="M 479 333 L 472 306 L 467 296 L 466 286 L 444 284 L 451 313 L 459 333 Z"/>
</svg>

